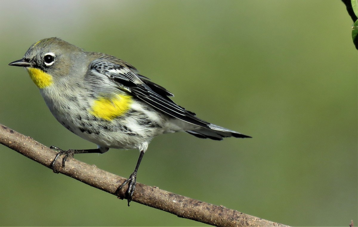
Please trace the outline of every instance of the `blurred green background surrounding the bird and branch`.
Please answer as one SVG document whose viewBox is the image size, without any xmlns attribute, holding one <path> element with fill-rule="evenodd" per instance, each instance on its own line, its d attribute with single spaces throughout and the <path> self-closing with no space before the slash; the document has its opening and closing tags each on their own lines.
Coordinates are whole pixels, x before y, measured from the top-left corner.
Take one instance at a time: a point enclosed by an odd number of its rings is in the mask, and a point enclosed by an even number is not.
<svg viewBox="0 0 358 227">
<path fill-rule="evenodd" d="M 95 148 L 60 125 L 22 68 L 58 36 L 124 59 L 200 118 L 252 139 L 153 139 L 138 182 L 293 226 L 358 224 L 357 50 L 340 1 L 1 1 L 0 123 Z M 128 177 L 137 150 L 76 155 Z M 203 226 L 116 199 L 0 145 L 0 224 Z"/>
</svg>

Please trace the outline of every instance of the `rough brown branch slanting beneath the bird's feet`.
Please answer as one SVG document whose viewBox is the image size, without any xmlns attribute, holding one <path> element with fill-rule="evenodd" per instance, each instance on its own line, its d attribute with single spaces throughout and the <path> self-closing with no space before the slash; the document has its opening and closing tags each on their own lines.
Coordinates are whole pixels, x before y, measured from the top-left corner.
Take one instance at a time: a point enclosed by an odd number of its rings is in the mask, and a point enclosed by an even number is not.
<svg viewBox="0 0 358 227">
<path fill-rule="evenodd" d="M 56 155 L 54 150 L 2 124 L 0 143 L 46 167 L 49 167 Z M 125 181 L 123 177 L 74 158 L 68 158 L 65 167 L 57 165 L 57 168 L 62 174 L 111 194 L 114 194 L 117 187 Z M 140 183 L 136 184 L 133 201 L 213 226 L 286 226 Z"/>
</svg>

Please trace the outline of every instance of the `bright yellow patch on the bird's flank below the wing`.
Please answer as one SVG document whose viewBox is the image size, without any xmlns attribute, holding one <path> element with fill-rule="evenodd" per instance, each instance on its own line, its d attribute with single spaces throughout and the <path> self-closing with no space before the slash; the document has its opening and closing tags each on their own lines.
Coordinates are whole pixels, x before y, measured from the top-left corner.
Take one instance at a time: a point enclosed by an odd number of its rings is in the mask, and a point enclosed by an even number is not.
<svg viewBox="0 0 358 227">
<path fill-rule="evenodd" d="M 90 113 L 104 120 L 113 120 L 125 114 L 131 103 L 130 95 L 117 94 L 113 98 L 101 97 L 95 100 Z"/>
</svg>

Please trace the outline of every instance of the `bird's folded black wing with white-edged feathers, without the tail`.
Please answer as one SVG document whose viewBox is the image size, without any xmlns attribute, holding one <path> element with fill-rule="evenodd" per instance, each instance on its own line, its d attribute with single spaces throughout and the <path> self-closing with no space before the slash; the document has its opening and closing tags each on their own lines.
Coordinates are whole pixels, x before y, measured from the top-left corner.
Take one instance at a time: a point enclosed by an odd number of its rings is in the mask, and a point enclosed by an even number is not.
<svg viewBox="0 0 358 227">
<path fill-rule="evenodd" d="M 148 78 L 139 75 L 130 64 L 112 56 L 99 58 L 89 65 L 93 75 L 105 75 L 125 89 L 137 99 L 149 104 L 154 109 L 164 112 L 185 122 L 209 128 L 209 123 L 195 117 L 195 114 L 175 104 L 169 97 L 173 96 L 165 88 L 151 82 Z"/>
</svg>

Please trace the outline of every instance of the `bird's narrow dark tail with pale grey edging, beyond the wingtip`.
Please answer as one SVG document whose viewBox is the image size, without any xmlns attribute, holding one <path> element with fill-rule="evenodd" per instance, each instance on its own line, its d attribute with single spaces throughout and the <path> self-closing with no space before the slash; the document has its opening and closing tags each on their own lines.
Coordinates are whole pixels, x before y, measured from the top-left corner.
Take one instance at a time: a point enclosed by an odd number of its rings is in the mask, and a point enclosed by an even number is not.
<svg viewBox="0 0 358 227">
<path fill-rule="evenodd" d="M 208 124 L 208 128 L 200 127 L 199 129 L 189 130 L 186 132 L 199 138 L 209 138 L 214 140 L 222 140 L 224 137 L 251 138 L 251 136 L 214 124 Z"/>
</svg>

